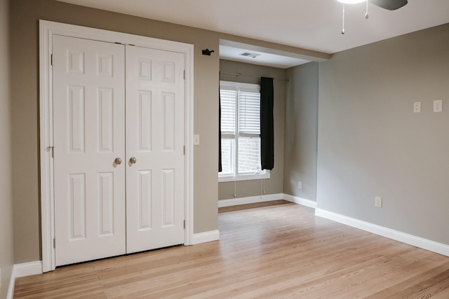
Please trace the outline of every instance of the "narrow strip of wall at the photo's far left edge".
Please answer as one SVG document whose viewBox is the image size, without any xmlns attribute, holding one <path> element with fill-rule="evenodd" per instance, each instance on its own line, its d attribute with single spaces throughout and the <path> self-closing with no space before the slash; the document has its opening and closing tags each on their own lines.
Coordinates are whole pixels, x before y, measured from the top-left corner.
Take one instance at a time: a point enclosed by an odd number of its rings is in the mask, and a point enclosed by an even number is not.
<svg viewBox="0 0 449 299">
<path fill-rule="evenodd" d="M 11 111 L 9 81 L 9 1 L 0 0 L 0 298 L 6 298 L 13 269 Z"/>
</svg>

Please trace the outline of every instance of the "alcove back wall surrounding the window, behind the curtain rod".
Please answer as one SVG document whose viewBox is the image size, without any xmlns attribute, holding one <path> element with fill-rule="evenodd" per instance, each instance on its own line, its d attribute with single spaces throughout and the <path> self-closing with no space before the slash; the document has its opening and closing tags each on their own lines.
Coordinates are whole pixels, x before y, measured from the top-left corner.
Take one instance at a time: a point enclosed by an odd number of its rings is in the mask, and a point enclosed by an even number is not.
<svg viewBox="0 0 449 299">
<path fill-rule="evenodd" d="M 255 64 L 220 60 L 220 80 L 260 84 L 260 77 L 274 78 L 274 168 L 269 179 L 236 182 L 236 197 L 248 197 L 282 193 L 283 184 L 283 120 L 286 97 L 286 70 L 261 67 Z M 223 73 L 243 74 L 233 76 Z M 261 186 L 262 184 L 262 186 Z M 263 194 L 263 193 L 262 193 Z M 234 198 L 234 182 L 218 183 L 218 200 Z"/>
</svg>

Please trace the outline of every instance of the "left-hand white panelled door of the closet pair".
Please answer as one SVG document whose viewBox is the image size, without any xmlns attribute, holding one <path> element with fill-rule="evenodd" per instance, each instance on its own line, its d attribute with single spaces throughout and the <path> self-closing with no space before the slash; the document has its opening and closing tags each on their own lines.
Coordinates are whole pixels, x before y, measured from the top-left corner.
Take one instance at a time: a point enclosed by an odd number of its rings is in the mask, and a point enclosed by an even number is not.
<svg viewBox="0 0 449 299">
<path fill-rule="evenodd" d="M 126 253 L 124 53 L 53 38 L 57 266 Z"/>
</svg>

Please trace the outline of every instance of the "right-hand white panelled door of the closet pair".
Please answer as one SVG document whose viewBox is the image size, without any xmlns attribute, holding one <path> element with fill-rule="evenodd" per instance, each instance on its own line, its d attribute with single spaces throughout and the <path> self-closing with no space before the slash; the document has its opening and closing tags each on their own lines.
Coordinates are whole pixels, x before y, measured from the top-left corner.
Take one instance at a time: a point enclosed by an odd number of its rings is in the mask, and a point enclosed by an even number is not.
<svg viewBox="0 0 449 299">
<path fill-rule="evenodd" d="M 184 105 L 184 55 L 126 46 L 128 253 L 184 243 Z"/>
</svg>

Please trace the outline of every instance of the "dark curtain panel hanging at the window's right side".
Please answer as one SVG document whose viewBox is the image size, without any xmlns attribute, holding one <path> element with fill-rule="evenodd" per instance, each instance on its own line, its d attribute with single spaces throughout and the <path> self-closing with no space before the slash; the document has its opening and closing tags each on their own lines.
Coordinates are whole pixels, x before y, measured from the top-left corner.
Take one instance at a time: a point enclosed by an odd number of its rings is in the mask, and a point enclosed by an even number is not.
<svg viewBox="0 0 449 299">
<path fill-rule="evenodd" d="M 274 167 L 273 78 L 260 78 L 260 162 L 262 169 Z"/>
</svg>

